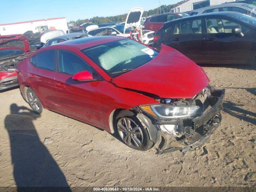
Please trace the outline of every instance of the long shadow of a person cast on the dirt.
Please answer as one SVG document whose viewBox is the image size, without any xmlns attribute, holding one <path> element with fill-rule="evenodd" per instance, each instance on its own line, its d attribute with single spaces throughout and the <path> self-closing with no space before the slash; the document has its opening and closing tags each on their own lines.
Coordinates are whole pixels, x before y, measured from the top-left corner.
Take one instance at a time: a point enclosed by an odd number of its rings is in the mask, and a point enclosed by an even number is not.
<svg viewBox="0 0 256 192">
<path fill-rule="evenodd" d="M 4 123 L 10 138 L 13 175 L 18 191 L 28 186 L 62 187 L 64 191 L 71 191 L 64 174 L 36 132 L 33 121 L 40 114 L 16 104 L 11 104 L 10 111 Z"/>
</svg>

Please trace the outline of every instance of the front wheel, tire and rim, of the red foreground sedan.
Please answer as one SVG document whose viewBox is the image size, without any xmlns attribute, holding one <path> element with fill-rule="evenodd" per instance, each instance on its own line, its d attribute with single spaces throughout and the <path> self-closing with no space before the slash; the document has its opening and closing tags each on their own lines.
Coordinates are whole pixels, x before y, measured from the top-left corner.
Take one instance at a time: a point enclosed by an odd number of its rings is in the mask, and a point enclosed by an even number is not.
<svg viewBox="0 0 256 192">
<path fill-rule="evenodd" d="M 121 111 L 114 123 L 118 135 L 130 148 L 146 151 L 153 146 L 148 132 L 133 112 Z"/>
</svg>

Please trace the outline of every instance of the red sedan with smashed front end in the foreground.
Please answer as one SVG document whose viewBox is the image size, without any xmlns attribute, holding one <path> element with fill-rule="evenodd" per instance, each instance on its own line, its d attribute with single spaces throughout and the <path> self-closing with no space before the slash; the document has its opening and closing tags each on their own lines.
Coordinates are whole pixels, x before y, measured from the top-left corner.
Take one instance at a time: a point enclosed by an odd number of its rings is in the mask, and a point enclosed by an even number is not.
<svg viewBox="0 0 256 192">
<path fill-rule="evenodd" d="M 34 111 L 116 132 L 137 150 L 194 150 L 221 120 L 224 90 L 214 90 L 202 68 L 164 45 L 158 52 L 117 36 L 80 38 L 32 53 L 17 72 Z"/>
</svg>

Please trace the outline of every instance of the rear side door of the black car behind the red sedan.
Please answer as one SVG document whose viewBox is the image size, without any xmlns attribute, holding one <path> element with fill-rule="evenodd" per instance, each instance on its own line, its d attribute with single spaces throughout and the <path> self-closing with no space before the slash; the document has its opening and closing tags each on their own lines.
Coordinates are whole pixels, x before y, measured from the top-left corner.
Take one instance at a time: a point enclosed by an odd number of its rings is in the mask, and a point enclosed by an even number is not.
<svg viewBox="0 0 256 192">
<path fill-rule="evenodd" d="M 200 18 L 178 22 L 172 29 L 166 28 L 164 33 L 167 37 L 164 44 L 177 49 L 195 62 L 205 59 L 204 31 Z"/>
</svg>

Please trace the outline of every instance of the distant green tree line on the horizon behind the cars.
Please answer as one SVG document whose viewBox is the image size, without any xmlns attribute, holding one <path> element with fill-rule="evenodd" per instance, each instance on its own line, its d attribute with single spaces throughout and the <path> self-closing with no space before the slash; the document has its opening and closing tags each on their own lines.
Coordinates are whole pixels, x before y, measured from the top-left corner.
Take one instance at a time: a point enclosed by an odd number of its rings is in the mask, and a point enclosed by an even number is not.
<svg viewBox="0 0 256 192">
<path fill-rule="evenodd" d="M 178 2 L 176 4 L 170 4 L 170 5 L 162 5 L 161 6 L 161 12 L 162 13 L 166 13 L 166 12 L 171 12 L 172 8 L 182 4 L 183 2 L 185 2 L 186 0 L 183 0 L 181 2 Z M 148 17 L 150 15 L 154 15 L 154 14 L 160 14 L 160 7 L 155 8 L 155 9 L 151 9 L 148 11 L 144 11 L 142 17 Z M 108 17 L 93 17 L 90 19 L 78 19 L 77 21 L 70 21 L 68 22 L 68 24 L 73 23 L 74 26 L 80 26 L 83 23 L 95 23 L 95 24 L 102 24 L 102 23 L 118 23 L 118 22 L 124 22 L 126 20 L 126 14 L 122 14 L 122 15 L 117 15 L 117 16 L 108 16 Z"/>
</svg>

